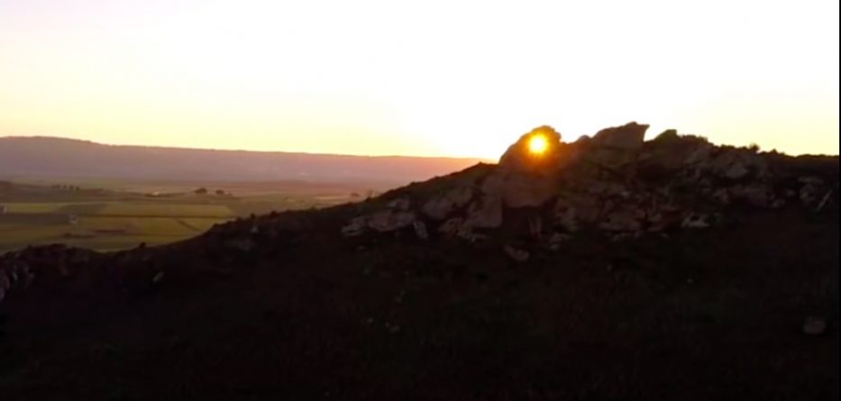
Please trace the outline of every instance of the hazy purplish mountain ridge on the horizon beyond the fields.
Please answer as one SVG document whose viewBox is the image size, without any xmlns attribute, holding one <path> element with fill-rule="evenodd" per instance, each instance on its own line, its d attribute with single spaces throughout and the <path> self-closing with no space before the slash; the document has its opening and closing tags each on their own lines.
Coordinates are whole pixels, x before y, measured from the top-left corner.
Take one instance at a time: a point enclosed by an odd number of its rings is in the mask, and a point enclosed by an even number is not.
<svg viewBox="0 0 841 401">
<path fill-rule="evenodd" d="M 0 138 L 0 178 L 302 179 L 405 183 L 447 174 L 480 161 L 119 146 L 54 137 Z"/>
</svg>

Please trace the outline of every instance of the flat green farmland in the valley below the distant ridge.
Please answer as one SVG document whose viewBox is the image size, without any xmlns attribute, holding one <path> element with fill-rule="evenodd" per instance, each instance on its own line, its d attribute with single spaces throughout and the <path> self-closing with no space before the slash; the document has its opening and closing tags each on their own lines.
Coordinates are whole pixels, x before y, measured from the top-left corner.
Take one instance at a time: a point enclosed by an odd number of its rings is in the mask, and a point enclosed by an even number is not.
<svg viewBox="0 0 841 401">
<path fill-rule="evenodd" d="M 0 252 L 47 243 L 117 251 L 178 242 L 240 216 L 337 205 L 371 191 L 297 182 L 85 184 L 6 185 L 0 191 Z M 197 192 L 199 187 L 207 191 Z"/>
</svg>

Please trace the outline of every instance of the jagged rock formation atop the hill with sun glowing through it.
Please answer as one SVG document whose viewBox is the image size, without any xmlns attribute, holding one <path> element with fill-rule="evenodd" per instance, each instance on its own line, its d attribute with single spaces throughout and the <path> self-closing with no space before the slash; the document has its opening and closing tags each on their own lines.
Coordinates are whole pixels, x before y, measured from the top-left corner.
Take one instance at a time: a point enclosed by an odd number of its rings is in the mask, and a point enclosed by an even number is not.
<svg viewBox="0 0 841 401">
<path fill-rule="evenodd" d="M 555 249 L 580 232 L 621 241 L 727 223 L 732 207 L 817 211 L 837 202 L 837 182 L 777 171 L 771 154 L 719 147 L 674 130 L 644 141 L 647 128 L 628 123 L 572 143 L 550 127 L 536 128 L 484 174 L 452 180 L 432 194 L 400 197 L 401 204 L 417 207 L 361 215 L 343 234 L 423 223 L 443 237 L 477 242 L 507 232 L 526 238 L 529 247 Z M 535 135 L 547 140 L 544 153 L 528 149 Z M 531 223 L 520 223 L 524 219 Z"/>
</svg>

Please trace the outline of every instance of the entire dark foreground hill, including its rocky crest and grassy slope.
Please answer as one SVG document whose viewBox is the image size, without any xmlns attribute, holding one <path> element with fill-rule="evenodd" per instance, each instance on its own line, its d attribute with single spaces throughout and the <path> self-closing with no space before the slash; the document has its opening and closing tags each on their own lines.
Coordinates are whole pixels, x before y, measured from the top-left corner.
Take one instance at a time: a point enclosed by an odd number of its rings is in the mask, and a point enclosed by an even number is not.
<svg viewBox="0 0 841 401">
<path fill-rule="evenodd" d="M 646 128 L 540 127 L 164 247 L 8 253 L 0 394 L 836 399 L 838 158 Z"/>
</svg>

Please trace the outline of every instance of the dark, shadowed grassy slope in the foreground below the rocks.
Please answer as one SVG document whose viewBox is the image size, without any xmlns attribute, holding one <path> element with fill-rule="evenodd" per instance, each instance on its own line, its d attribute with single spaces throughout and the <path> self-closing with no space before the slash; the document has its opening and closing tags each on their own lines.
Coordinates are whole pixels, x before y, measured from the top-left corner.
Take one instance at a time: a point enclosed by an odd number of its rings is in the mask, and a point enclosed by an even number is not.
<svg viewBox="0 0 841 401">
<path fill-rule="evenodd" d="M 32 400 L 838 399 L 836 215 L 581 238 L 518 264 L 493 239 L 340 241 L 353 208 L 281 215 L 308 226 L 251 253 L 216 233 L 77 269 L 118 266 L 119 283 L 148 283 L 133 296 L 104 279 L 31 288 L 30 303 L 5 304 L 0 389 Z M 811 315 L 830 323 L 825 335 L 801 333 Z"/>
</svg>

